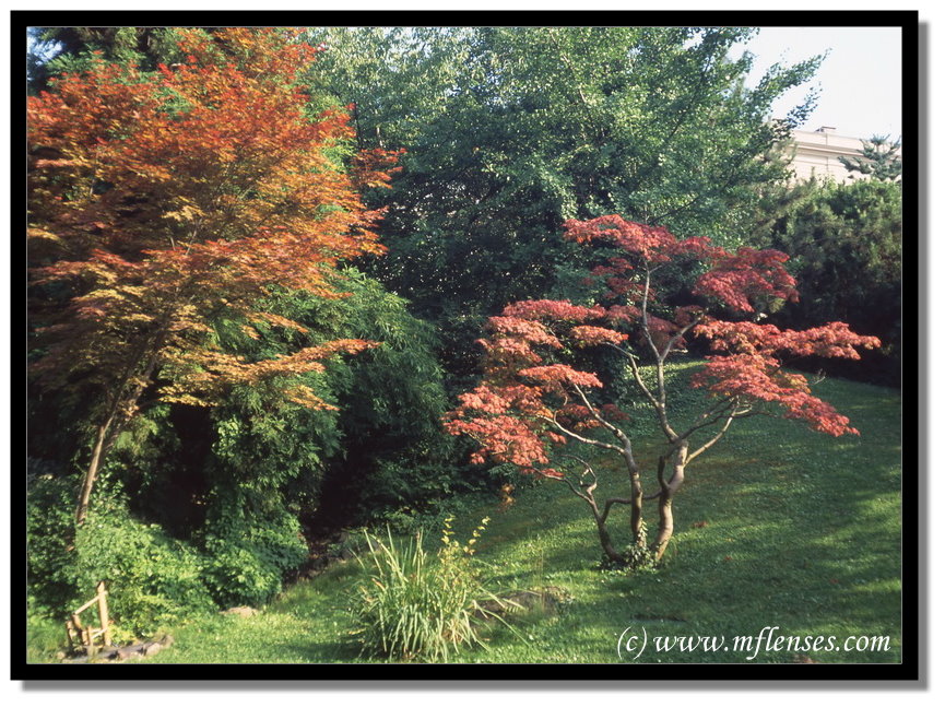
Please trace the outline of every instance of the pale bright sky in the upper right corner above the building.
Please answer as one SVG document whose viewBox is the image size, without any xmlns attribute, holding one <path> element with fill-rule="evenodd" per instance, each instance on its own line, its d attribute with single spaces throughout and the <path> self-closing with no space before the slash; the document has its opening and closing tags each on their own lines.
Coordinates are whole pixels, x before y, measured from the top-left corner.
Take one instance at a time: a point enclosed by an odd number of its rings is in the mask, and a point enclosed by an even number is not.
<svg viewBox="0 0 945 707">
<path fill-rule="evenodd" d="M 772 63 L 796 63 L 829 50 L 811 82 L 775 104 L 773 117 L 784 117 L 807 91 L 818 89 L 817 108 L 802 130 L 830 126 L 840 135 L 895 140 L 902 132 L 900 34 L 899 27 L 761 27 L 739 49 L 756 57 L 753 85 Z"/>
</svg>

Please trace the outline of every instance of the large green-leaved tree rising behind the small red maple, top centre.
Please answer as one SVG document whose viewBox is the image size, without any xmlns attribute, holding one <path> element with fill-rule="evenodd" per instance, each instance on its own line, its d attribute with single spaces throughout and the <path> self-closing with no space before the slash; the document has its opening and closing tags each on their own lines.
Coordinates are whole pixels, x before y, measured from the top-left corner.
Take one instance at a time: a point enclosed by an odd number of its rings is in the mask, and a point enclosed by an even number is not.
<svg viewBox="0 0 945 707">
<path fill-rule="evenodd" d="M 580 252 L 567 219 L 624 213 L 731 246 L 766 158 L 803 120 L 771 103 L 818 64 L 745 83 L 747 27 L 329 28 L 315 90 L 357 105 L 366 146 L 404 146 L 370 272 L 445 335 L 450 373 L 475 366 L 483 317 L 557 296 Z M 733 58 L 734 57 L 734 58 Z M 728 241 L 728 243 L 727 243 Z"/>
</svg>

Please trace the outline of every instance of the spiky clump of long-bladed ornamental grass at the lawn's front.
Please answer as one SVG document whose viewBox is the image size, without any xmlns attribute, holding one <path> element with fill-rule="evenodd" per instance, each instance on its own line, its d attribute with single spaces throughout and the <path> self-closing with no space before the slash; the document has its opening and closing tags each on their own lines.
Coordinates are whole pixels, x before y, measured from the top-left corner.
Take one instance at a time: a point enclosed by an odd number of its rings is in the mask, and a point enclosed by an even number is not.
<svg viewBox="0 0 945 707">
<path fill-rule="evenodd" d="M 389 528 L 386 541 L 367 537 L 373 552 L 357 559 L 369 576 L 352 609 L 363 652 L 445 662 L 463 647 L 484 646 L 476 629 L 495 614 L 482 604 L 503 603 L 483 586 L 473 561 L 488 518 L 463 544 L 454 539 L 452 520 L 444 521 L 438 552 L 424 550 L 423 532 L 403 542 Z"/>
</svg>

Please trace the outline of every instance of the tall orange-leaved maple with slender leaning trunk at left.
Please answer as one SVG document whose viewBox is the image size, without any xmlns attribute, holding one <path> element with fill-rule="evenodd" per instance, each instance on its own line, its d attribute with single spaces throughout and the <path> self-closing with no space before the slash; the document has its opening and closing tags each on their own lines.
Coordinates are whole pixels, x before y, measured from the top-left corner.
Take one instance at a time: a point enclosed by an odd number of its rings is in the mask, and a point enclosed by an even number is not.
<svg viewBox="0 0 945 707">
<path fill-rule="evenodd" d="M 95 401 L 76 520 L 103 458 L 143 400 L 211 405 L 234 385 L 330 405 L 298 376 L 373 346 L 342 339 L 263 360 L 224 351 L 216 323 L 304 332 L 267 311 L 274 288 L 340 297 L 336 266 L 380 254 L 390 155 L 339 163 L 347 116 L 311 118 L 293 34 L 179 30 L 184 62 L 156 72 L 92 62 L 28 102 L 33 373 Z"/>
</svg>

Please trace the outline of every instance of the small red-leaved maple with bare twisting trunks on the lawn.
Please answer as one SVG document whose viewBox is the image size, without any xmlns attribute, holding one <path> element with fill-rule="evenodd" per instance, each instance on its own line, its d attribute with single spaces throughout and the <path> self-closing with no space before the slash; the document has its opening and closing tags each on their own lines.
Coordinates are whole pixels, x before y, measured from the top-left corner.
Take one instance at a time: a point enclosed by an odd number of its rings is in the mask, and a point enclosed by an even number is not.
<svg viewBox="0 0 945 707">
<path fill-rule="evenodd" d="M 533 299 L 511 304 L 489 318 L 488 335 L 480 341 L 485 347 L 484 378 L 460 396 L 446 425 L 450 433 L 469 435 L 481 445 L 474 461 L 512 463 L 523 472 L 562 480 L 590 507 L 610 561 L 627 559 L 613 546 L 606 528 L 612 507 L 630 507 L 634 543 L 642 551 L 645 500 L 659 505 L 659 530 L 650 551 L 655 559 L 662 557 L 673 534 L 673 497 L 686 468 L 736 420 L 780 408 L 784 416 L 817 432 L 859 434 L 849 419 L 812 394 L 804 376 L 785 370 L 781 356 L 857 358 L 855 346 L 875 347 L 879 342 L 853 333 L 842 322 L 804 331 L 757 323 L 773 302 L 796 296 L 794 279 L 783 267 L 787 256 L 747 247 L 729 252 L 704 237 L 681 239 L 665 228 L 616 215 L 568 221 L 565 228 L 569 240 L 612 249 L 606 264 L 595 268 L 587 281 L 593 294 L 592 283 L 600 279 L 600 294 L 610 304 Z M 698 263 L 706 266 L 701 274 L 694 267 Z M 671 307 L 660 302 L 659 279 L 672 270 L 690 273 L 693 297 L 687 304 Z M 713 309 L 722 316 L 710 314 Z M 709 394 L 705 409 L 684 421 L 669 403 L 665 366 L 673 353 L 686 350 L 693 335 L 710 342 L 712 353 L 692 381 Z M 603 377 L 571 365 L 582 350 L 596 346 L 626 358 L 636 388 L 665 437 L 652 493 L 643 487 L 633 436 L 622 426 L 626 414 L 604 394 Z M 595 436 L 594 429 L 610 440 Z M 560 446 L 568 453 L 554 461 L 552 450 Z M 576 446 L 617 455 L 628 473 L 628 493 L 599 500 L 593 464 L 571 453 Z M 577 462 L 577 472 L 571 462 Z"/>
</svg>

